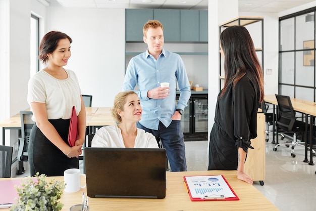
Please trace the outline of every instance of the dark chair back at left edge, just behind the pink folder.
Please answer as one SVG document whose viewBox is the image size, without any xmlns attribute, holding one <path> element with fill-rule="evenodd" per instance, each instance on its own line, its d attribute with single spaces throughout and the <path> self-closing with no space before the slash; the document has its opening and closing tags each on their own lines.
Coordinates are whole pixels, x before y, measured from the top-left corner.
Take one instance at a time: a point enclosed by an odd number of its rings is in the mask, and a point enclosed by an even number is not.
<svg viewBox="0 0 316 211">
<path fill-rule="evenodd" d="M 11 178 L 13 147 L 0 146 L 0 178 Z"/>
</svg>

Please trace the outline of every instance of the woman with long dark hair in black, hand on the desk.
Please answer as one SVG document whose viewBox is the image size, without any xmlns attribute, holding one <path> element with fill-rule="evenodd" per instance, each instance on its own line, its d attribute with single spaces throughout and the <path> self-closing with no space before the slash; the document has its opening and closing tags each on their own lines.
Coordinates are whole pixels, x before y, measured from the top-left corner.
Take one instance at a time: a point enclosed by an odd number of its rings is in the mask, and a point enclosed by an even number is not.
<svg viewBox="0 0 316 211">
<path fill-rule="evenodd" d="M 250 140 L 257 136 L 257 110 L 264 99 L 262 69 L 245 27 L 225 29 L 220 46 L 225 81 L 209 137 L 208 170 L 237 170 L 239 180 L 252 184 L 244 163 Z"/>
</svg>

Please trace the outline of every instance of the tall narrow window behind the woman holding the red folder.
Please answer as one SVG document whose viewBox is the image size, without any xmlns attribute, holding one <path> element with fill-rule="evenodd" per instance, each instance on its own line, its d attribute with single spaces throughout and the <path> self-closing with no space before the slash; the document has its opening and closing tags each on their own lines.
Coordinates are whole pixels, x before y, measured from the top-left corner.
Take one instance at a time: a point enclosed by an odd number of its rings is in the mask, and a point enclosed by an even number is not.
<svg viewBox="0 0 316 211">
<path fill-rule="evenodd" d="M 31 75 L 39 71 L 38 46 L 39 46 L 39 18 L 31 14 Z"/>
</svg>

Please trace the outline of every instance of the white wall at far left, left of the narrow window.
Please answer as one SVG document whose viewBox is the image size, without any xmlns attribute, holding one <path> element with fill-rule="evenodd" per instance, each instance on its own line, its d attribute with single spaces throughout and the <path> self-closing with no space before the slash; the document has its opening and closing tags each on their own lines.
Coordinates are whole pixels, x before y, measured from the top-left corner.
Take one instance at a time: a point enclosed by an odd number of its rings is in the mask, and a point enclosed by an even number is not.
<svg viewBox="0 0 316 211">
<path fill-rule="evenodd" d="M 28 108 L 25 87 L 30 77 L 30 2 L 31 0 L 1 0 L 0 3 L 1 119 Z M 6 131 L 5 144 L 14 146 L 18 142 L 17 137 L 16 130 Z M 16 156 L 17 152 L 14 150 L 13 158 Z M 17 162 L 12 166 L 13 176 L 16 167 Z"/>
</svg>

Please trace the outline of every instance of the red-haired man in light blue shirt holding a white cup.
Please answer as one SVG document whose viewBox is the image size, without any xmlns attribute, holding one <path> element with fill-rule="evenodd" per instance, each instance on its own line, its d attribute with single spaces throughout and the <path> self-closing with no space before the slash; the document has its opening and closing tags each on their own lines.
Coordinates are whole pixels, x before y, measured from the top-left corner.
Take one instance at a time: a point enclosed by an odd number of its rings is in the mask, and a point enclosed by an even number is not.
<svg viewBox="0 0 316 211">
<path fill-rule="evenodd" d="M 165 51 L 163 25 L 149 20 L 143 27 L 144 43 L 148 48 L 133 57 L 127 67 L 123 90 L 134 90 L 137 85 L 143 108 L 137 128 L 152 133 L 162 142 L 172 172 L 186 171 L 185 146 L 181 130 L 181 115 L 191 96 L 184 63 L 178 54 Z M 176 86 L 180 97 L 176 102 Z M 162 82 L 169 87 L 162 88 Z"/>
</svg>

